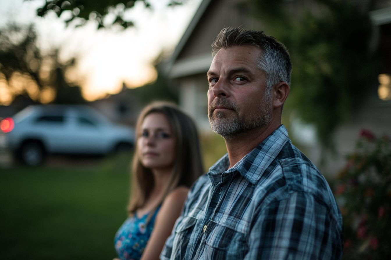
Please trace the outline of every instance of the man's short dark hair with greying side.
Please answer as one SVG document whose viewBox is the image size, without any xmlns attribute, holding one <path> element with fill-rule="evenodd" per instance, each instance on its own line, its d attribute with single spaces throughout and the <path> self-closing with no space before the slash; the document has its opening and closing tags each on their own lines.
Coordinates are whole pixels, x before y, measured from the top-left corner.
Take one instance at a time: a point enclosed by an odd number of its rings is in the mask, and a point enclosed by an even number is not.
<svg viewBox="0 0 391 260">
<path fill-rule="evenodd" d="M 266 86 L 270 91 L 274 84 L 285 81 L 291 85 L 292 62 L 284 44 L 274 37 L 255 30 L 227 27 L 221 30 L 212 44 L 212 55 L 221 49 L 253 45 L 262 49 L 258 68 L 266 74 Z"/>
</svg>

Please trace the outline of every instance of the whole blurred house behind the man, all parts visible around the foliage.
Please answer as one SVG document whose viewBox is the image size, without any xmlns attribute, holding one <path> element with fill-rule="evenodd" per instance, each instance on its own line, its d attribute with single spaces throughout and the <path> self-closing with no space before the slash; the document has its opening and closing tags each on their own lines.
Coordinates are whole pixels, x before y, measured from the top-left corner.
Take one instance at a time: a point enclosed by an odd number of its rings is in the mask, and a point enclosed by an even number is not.
<svg viewBox="0 0 391 260">
<path fill-rule="evenodd" d="M 310 2 L 308 0 L 285 1 L 289 7 Z M 168 77 L 178 82 L 180 106 L 205 132 L 211 131 L 207 117 L 206 72 L 213 59 L 211 55 L 213 38 L 222 28 L 228 26 L 258 30 L 262 28 L 260 21 L 248 16 L 246 5 L 243 3 L 243 0 L 203 0 L 166 66 Z M 362 1 L 359 4 L 362 4 Z M 295 9 L 291 8 L 291 10 Z M 391 75 L 391 2 L 376 1 L 370 17 L 376 32 L 373 36 L 373 48 L 380 48 L 384 57 L 382 71 L 384 74 Z M 384 86 L 382 89 L 389 89 L 387 93 L 391 98 L 391 85 L 387 88 Z M 374 90 L 360 110 L 355 111 L 346 123 L 337 128 L 334 134 L 337 156 L 332 153 L 326 156 L 323 154 L 322 148 L 316 141 L 314 127 L 310 125 L 302 124 L 300 121 L 293 122 L 290 135 L 300 143 L 301 147 L 304 147 L 305 154 L 321 168 L 324 175 L 333 177 L 344 165 L 345 155 L 353 151 L 362 128 L 370 129 L 375 134 L 391 134 L 391 100 L 387 100 L 388 97 L 383 99 L 380 99 L 377 90 Z M 321 164 L 321 159 L 324 158 L 327 159 L 326 163 Z"/>
</svg>

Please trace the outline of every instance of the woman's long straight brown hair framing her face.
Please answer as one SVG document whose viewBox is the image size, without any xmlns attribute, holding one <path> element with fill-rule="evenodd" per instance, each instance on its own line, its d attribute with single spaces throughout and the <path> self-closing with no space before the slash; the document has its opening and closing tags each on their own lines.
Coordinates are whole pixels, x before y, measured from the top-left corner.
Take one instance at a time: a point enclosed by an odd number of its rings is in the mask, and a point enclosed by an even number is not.
<svg viewBox="0 0 391 260">
<path fill-rule="evenodd" d="M 141 136 L 142 132 L 141 125 L 145 117 L 152 113 L 161 113 L 166 117 L 174 138 L 176 138 L 174 167 L 164 195 L 158 205 L 176 187 L 190 187 L 203 173 L 198 134 L 193 120 L 174 104 L 167 102 L 154 102 L 150 104 L 141 111 L 136 125 L 136 150 L 133 158 L 131 197 L 127 207 L 130 216 L 135 214 L 137 209 L 145 205 L 154 188 L 152 171 L 142 165 L 138 156 L 138 149 L 140 147 L 137 145 L 137 139 Z M 151 212 L 153 211 L 151 210 Z"/>
</svg>

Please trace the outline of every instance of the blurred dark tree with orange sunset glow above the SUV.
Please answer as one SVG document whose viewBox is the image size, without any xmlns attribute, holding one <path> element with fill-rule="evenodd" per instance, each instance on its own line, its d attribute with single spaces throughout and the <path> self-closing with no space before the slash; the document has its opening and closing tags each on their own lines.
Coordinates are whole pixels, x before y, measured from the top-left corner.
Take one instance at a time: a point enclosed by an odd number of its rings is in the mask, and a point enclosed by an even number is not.
<svg viewBox="0 0 391 260">
<path fill-rule="evenodd" d="M 65 79 L 75 59 L 60 62 L 59 50 L 42 54 L 32 25 L 0 29 L 0 91 L 3 104 L 24 95 L 41 103 L 83 103 L 81 89 Z"/>
</svg>

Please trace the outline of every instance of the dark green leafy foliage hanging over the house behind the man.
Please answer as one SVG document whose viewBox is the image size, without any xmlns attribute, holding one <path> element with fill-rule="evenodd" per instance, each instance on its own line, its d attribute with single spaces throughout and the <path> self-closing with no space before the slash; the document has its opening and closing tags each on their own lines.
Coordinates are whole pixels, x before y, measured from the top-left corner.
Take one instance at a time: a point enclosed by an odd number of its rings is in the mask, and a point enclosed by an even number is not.
<svg viewBox="0 0 391 260">
<path fill-rule="evenodd" d="M 253 4 L 266 33 L 283 42 L 291 54 L 291 93 L 285 108 L 314 124 L 321 143 L 332 147 L 335 127 L 376 80 L 378 62 L 369 51 L 368 8 L 359 11 L 352 2 L 338 0 L 314 0 L 301 9 L 298 5 L 296 12 L 289 11 L 283 0 Z"/>
</svg>

